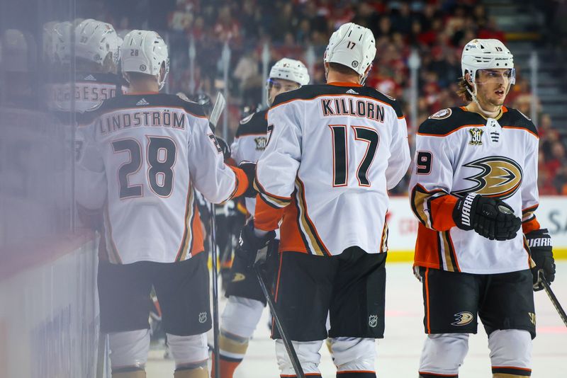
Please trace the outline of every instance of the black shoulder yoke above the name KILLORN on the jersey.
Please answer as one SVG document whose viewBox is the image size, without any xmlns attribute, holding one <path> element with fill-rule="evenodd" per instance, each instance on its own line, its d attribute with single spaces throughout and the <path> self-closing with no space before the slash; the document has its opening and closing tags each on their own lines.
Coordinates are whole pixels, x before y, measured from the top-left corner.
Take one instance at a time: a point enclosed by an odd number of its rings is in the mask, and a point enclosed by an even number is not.
<svg viewBox="0 0 567 378">
<path fill-rule="evenodd" d="M 320 96 L 361 96 L 373 98 L 381 103 L 391 106 L 398 117 L 403 117 L 402 108 L 395 98 L 388 96 L 375 88 L 369 86 L 359 86 L 357 84 L 313 84 L 301 86 L 294 91 L 288 91 L 276 96 L 272 108 L 293 100 L 312 100 Z"/>
</svg>

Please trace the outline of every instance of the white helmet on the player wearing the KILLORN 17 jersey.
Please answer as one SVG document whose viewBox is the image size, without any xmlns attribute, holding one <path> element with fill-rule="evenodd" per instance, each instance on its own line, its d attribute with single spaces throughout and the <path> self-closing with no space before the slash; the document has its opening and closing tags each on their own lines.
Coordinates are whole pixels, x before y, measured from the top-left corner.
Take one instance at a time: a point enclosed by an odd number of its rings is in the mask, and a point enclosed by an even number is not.
<svg viewBox="0 0 567 378">
<path fill-rule="evenodd" d="M 376 57 L 374 34 L 356 23 L 344 23 L 329 39 L 325 63 L 339 63 L 364 76 Z"/>
</svg>

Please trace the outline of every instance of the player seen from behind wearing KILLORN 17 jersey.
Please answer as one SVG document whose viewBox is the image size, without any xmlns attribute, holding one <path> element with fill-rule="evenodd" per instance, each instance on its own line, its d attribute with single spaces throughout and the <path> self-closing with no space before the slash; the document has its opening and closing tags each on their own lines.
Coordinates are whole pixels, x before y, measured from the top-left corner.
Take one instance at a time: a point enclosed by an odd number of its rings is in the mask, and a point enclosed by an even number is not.
<svg viewBox="0 0 567 378">
<path fill-rule="evenodd" d="M 254 222 L 238 253 L 256 258 L 281 221 L 276 309 L 305 374 L 320 377 L 325 321 L 337 377 L 376 377 L 384 331 L 387 190 L 410 163 L 400 105 L 363 86 L 376 55 L 371 30 L 346 23 L 332 34 L 327 84 L 276 97 L 257 170 Z M 274 329 L 282 377 L 295 377 Z"/>
</svg>

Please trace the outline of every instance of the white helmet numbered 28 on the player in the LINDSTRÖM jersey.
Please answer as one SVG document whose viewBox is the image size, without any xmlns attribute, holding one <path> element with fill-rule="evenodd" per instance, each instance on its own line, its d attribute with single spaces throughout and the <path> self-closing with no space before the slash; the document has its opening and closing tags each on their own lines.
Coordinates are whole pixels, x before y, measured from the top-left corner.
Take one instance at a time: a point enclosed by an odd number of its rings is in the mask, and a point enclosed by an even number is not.
<svg viewBox="0 0 567 378">
<path fill-rule="evenodd" d="M 159 89 L 164 86 L 165 78 L 169 72 L 169 54 L 167 45 L 162 37 L 152 30 L 132 30 L 125 35 L 120 47 L 123 72 L 140 72 L 157 76 Z M 163 78 L 159 77 L 159 70 L 165 67 Z"/>
</svg>

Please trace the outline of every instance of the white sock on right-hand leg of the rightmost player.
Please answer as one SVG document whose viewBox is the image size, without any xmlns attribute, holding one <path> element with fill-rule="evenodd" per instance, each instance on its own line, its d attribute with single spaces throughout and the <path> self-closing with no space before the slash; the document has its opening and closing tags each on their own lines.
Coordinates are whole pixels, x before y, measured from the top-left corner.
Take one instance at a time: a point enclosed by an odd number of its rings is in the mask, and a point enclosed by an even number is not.
<svg viewBox="0 0 567 378">
<path fill-rule="evenodd" d="M 499 329 L 488 336 L 493 374 L 525 375 L 532 367 L 532 335 L 520 329 Z"/>
</svg>

